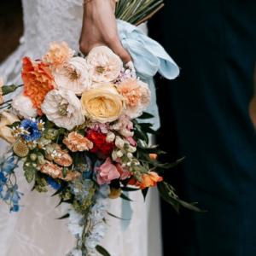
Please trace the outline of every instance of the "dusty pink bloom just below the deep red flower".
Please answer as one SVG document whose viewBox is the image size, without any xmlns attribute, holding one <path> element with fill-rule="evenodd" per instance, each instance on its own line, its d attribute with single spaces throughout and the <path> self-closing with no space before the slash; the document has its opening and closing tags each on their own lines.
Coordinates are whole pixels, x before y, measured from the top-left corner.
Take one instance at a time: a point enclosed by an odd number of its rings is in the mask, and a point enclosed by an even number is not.
<svg viewBox="0 0 256 256">
<path fill-rule="evenodd" d="M 102 164 L 102 166 L 96 168 L 97 183 L 109 184 L 113 179 L 120 177 L 120 173 L 116 166 L 113 165 L 111 159 L 108 159 Z"/>
</svg>

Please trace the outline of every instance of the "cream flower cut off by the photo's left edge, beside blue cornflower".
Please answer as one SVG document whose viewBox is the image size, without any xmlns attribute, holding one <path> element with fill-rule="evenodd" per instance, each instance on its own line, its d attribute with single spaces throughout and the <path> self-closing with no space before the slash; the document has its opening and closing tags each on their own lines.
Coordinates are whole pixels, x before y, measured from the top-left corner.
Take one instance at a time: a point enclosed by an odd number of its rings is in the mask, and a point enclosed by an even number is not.
<svg viewBox="0 0 256 256">
<path fill-rule="evenodd" d="M 3 111 L 3 113 L 0 114 L 0 137 L 8 143 L 15 143 L 16 139 L 13 135 L 13 130 L 9 128 L 8 125 L 12 125 L 19 121 L 20 120 L 13 113 Z"/>
</svg>

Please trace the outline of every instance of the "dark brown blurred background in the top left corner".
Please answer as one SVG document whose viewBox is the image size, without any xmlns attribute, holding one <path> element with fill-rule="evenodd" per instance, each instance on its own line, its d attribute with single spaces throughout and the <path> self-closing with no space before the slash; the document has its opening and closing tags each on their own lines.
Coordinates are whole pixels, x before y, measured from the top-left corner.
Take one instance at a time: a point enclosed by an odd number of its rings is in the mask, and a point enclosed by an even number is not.
<svg viewBox="0 0 256 256">
<path fill-rule="evenodd" d="M 0 62 L 17 48 L 22 32 L 20 0 L 0 1 Z"/>
</svg>

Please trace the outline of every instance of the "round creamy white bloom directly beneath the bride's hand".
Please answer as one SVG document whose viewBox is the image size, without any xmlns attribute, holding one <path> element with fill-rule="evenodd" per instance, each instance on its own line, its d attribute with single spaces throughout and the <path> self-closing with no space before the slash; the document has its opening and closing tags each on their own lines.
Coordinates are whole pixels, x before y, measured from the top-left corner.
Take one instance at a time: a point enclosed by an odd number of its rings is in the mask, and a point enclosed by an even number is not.
<svg viewBox="0 0 256 256">
<path fill-rule="evenodd" d="M 96 83 L 111 82 L 118 78 L 123 62 L 107 46 L 91 49 L 86 57 L 90 78 Z"/>
</svg>

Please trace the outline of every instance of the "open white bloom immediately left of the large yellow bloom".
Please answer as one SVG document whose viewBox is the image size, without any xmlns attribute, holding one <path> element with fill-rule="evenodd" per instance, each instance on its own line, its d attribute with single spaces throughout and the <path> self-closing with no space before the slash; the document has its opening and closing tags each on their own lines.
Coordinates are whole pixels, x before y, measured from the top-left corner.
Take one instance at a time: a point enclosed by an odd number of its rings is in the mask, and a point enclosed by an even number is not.
<svg viewBox="0 0 256 256">
<path fill-rule="evenodd" d="M 70 90 L 51 90 L 45 96 L 42 111 L 55 125 L 72 130 L 84 123 L 79 98 Z"/>
</svg>

